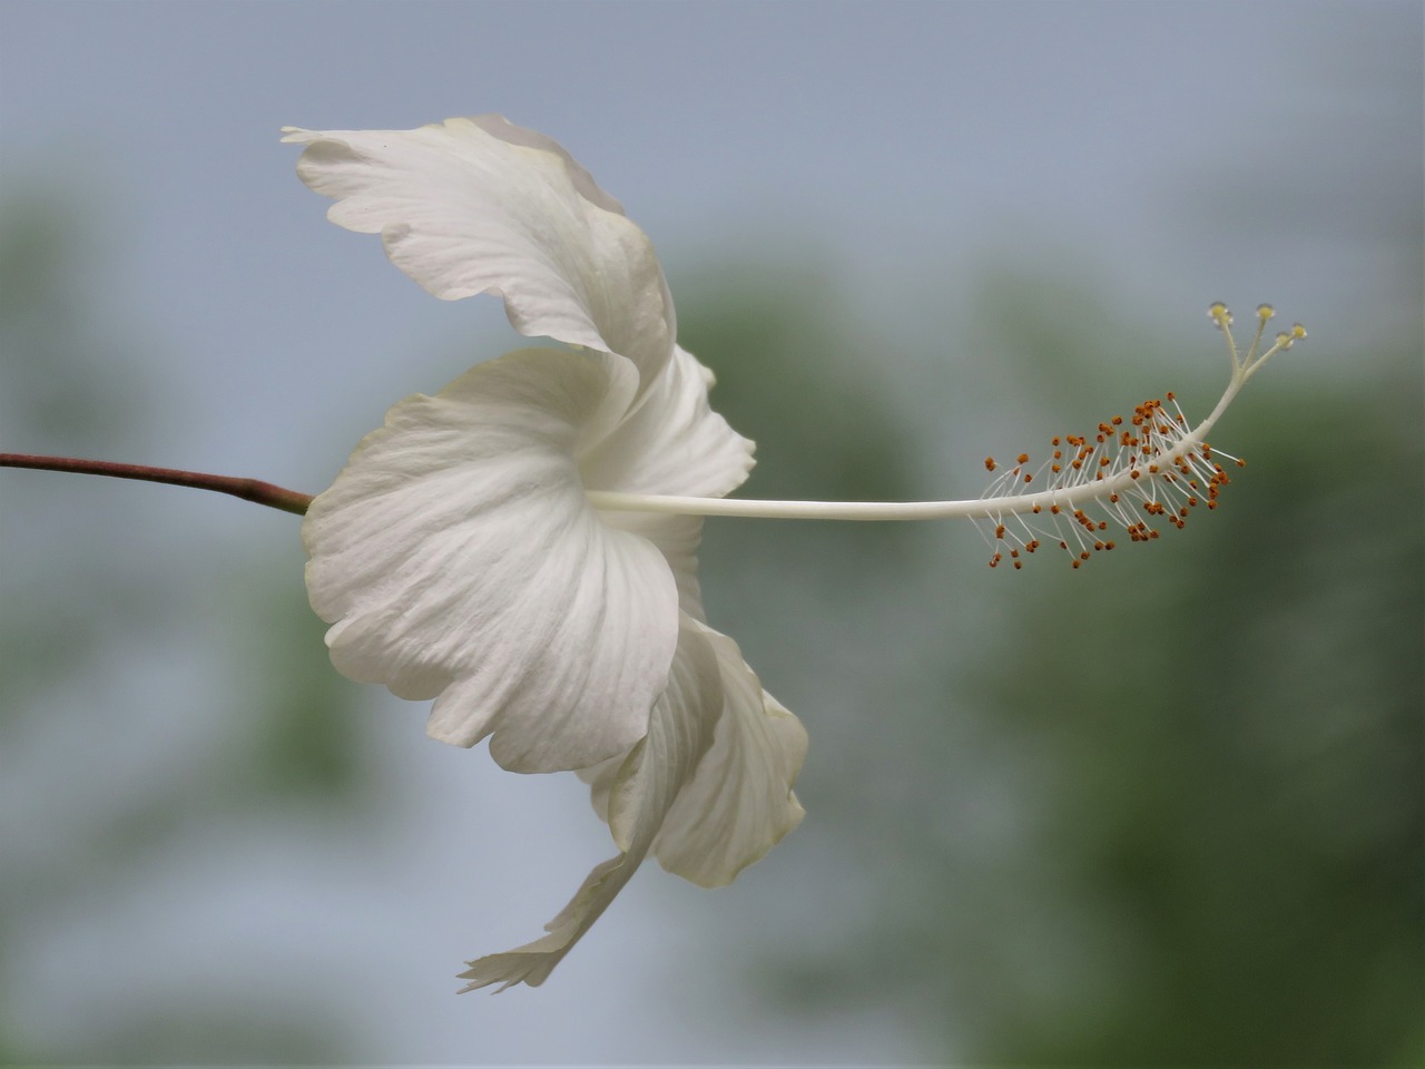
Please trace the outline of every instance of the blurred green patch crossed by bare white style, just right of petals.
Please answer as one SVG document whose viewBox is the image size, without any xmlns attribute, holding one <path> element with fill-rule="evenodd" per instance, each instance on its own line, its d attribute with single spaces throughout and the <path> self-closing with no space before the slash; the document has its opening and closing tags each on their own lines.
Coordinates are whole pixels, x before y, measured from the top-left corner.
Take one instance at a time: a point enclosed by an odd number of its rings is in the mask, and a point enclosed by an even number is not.
<svg viewBox="0 0 1425 1069">
<path fill-rule="evenodd" d="M 865 332 L 834 278 L 814 265 L 741 262 L 710 267 L 684 289 L 680 344 L 717 375 L 714 408 L 757 443 L 738 496 L 903 500 L 923 482 L 915 428 L 884 369 L 865 359 L 884 339 Z M 912 574 L 915 534 L 898 523 L 707 523 L 710 619 L 772 664 L 798 641 L 821 647 L 805 616 L 898 587 Z"/>
</svg>

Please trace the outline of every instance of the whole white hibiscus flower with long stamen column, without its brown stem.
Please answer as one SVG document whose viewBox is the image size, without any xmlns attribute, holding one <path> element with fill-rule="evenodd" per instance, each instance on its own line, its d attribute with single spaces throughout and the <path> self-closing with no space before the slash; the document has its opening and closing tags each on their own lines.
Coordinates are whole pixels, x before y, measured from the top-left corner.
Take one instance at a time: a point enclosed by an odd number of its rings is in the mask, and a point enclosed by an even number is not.
<svg viewBox="0 0 1425 1069">
<path fill-rule="evenodd" d="M 302 523 L 338 670 L 433 700 L 440 741 L 489 737 L 512 771 L 577 771 L 618 847 L 547 935 L 470 962 L 466 989 L 543 982 L 648 854 L 725 884 L 801 820 L 807 734 L 704 619 L 703 516 L 965 516 L 992 566 L 1057 547 L 1077 567 L 1113 549 L 1110 527 L 1151 540 L 1216 506 L 1226 455 L 1208 429 L 1305 336 L 1295 326 L 1263 349 L 1263 305 L 1241 353 L 1213 305 L 1231 381 L 1203 423 L 1190 429 L 1171 395 L 1144 402 L 1056 438 L 1037 466 L 986 459 L 999 473 L 980 499 L 728 499 L 752 443 L 711 410 L 711 373 L 678 348 L 648 238 L 563 148 L 496 115 L 285 140 L 305 147 L 302 181 L 336 201 L 331 220 L 379 234 L 428 291 L 496 294 L 517 331 L 571 346 L 520 349 L 400 402 Z"/>
</svg>

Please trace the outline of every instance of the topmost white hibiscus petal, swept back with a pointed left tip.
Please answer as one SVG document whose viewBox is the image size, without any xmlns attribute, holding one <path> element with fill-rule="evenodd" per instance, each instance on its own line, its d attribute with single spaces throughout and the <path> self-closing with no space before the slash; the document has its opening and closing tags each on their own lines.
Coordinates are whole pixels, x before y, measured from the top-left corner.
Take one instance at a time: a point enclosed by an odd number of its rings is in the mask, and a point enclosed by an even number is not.
<svg viewBox="0 0 1425 1069">
<path fill-rule="evenodd" d="M 392 262 L 446 301 L 496 292 L 522 334 L 617 352 L 646 382 L 677 334 L 647 235 L 550 138 L 499 115 L 419 130 L 312 131 L 298 175 L 332 222 L 380 234 Z"/>
</svg>

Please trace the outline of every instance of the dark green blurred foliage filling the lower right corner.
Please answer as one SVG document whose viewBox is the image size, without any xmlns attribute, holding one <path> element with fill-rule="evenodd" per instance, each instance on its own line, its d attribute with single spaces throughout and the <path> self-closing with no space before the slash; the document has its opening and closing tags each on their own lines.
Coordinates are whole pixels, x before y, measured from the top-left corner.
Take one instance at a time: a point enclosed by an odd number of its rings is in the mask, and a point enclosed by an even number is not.
<svg viewBox="0 0 1425 1069">
<path fill-rule="evenodd" d="M 1387 362 L 1389 381 L 1320 392 L 1274 368 L 1223 432 L 1251 463 L 1220 515 L 1150 549 L 1167 560 L 1056 589 L 1013 624 L 1025 670 L 979 673 L 986 713 L 1054 755 L 1037 849 L 1112 929 L 1072 952 L 1069 983 L 1080 956 L 1110 974 L 1073 1012 L 996 971 L 985 1053 L 1419 1050 L 1425 570 L 1418 503 L 1395 495 L 1421 480 L 1421 383 Z"/>
</svg>

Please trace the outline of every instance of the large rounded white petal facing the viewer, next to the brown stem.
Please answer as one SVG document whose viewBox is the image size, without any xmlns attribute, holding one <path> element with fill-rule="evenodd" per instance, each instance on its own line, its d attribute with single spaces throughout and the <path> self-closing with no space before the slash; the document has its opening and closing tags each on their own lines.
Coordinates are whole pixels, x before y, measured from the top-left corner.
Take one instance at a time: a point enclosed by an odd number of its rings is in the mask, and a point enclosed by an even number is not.
<svg viewBox="0 0 1425 1069">
<path fill-rule="evenodd" d="M 576 453 L 636 389 L 620 356 L 524 349 L 396 405 L 302 525 L 339 671 L 436 697 L 429 733 L 513 771 L 581 768 L 647 731 L 677 587 L 589 506 Z"/>
</svg>

